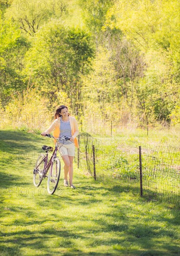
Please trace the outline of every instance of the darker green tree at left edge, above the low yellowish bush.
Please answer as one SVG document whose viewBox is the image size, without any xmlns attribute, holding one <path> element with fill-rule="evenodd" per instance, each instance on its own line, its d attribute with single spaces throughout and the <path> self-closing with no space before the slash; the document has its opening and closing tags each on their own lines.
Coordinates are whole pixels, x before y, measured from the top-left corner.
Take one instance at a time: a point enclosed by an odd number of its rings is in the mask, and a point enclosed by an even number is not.
<svg viewBox="0 0 180 256">
<path fill-rule="evenodd" d="M 0 41 L 1 99 L 2 105 L 5 106 L 12 94 L 15 95 L 26 88 L 22 70 L 24 68 L 24 55 L 30 47 L 30 43 L 20 34 L 17 25 L 11 20 L 1 26 Z"/>
</svg>

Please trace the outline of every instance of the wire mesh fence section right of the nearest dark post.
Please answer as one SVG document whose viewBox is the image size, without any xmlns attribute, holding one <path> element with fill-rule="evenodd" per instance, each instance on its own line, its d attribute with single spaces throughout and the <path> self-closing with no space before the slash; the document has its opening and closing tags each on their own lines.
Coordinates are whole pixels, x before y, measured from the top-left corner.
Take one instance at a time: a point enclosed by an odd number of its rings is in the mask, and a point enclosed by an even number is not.
<svg viewBox="0 0 180 256">
<path fill-rule="evenodd" d="M 142 146 L 143 195 L 179 204 L 180 149 Z"/>
</svg>

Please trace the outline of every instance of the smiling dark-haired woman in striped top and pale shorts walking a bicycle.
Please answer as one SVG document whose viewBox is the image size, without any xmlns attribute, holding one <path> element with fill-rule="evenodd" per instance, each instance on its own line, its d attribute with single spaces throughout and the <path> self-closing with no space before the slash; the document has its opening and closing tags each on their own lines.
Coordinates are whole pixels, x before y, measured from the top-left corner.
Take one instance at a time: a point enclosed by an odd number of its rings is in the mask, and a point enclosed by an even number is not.
<svg viewBox="0 0 180 256">
<path fill-rule="evenodd" d="M 75 146 L 79 148 L 78 141 L 76 136 L 79 134 L 77 120 L 75 117 L 70 116 L 68 108 L 64 105 L 61 105 L 54 115 L 54 121 L 51 124 L 50 128 L 45 130 L 41 135 L 45 136 L 46 134 L 51 133 L 54 130 L 54 137 L 70 137 L 70 141 L 63 141 L 64 144 L 59 142 L 59 146 L 62 146 L 59 150 L 62 159 L 64 161 L 64 186 L 68 187 L 68 173 L 69 173 L 69 182 L 72 189 L 76 187 L 72 184 L 73 177 L 73 159 L 75 155 Z"/>
</svg>

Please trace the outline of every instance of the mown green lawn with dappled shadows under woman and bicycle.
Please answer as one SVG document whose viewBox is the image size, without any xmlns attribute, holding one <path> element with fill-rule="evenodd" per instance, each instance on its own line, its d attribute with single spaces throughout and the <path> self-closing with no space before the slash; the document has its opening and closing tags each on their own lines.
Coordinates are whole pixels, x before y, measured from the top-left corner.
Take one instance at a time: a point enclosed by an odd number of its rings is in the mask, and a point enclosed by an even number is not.
<svg viewBox="0 0 180 256">
<path fill-rule="evenodd" d="M 1 255 L 175 256 L 179 211 L 95 182 L 74 165 L 76 190 L 55 195 L 46 180 L 33 187 L 32 169 L 51 139 L 2 130 Z"/>
</svg>

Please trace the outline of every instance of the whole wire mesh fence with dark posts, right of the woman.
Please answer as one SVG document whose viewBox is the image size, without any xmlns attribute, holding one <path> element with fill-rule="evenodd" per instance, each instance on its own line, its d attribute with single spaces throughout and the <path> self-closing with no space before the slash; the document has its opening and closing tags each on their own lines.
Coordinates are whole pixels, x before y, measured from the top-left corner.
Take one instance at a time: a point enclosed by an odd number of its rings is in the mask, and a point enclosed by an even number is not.
<svg viewBox="0 0 180 256">
<path fill-rule="evenodd" d="M 78 139 L 78 167 L 97 181 L 151 200 L 179 204 L 180 148 L 94 138 L 87 133 Z"/>
</svg>

